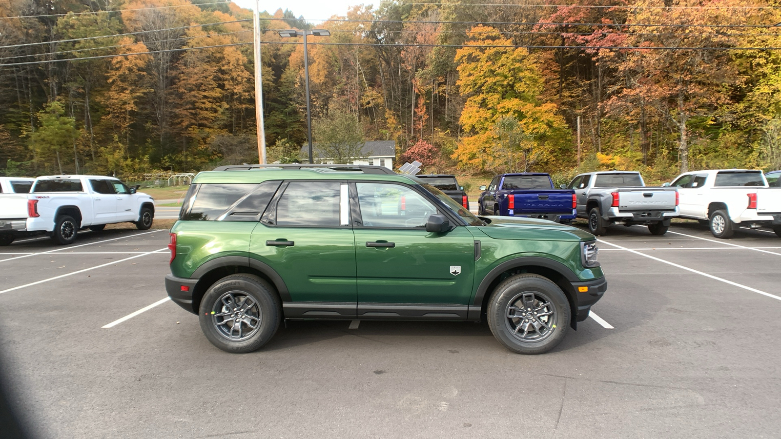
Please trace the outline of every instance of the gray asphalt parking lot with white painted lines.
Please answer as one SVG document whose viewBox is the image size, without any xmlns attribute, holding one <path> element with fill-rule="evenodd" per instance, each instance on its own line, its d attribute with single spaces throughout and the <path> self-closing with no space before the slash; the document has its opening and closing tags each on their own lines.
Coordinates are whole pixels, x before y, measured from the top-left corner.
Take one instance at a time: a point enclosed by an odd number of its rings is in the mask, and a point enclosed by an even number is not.
<svg viewBox="0 0 781 439">
<path fill-rule="evenodd" d="M 230 355 L 166 300 L 166 230 L 15 241 L 0 372 L 31 437 L 779 437 L 781 239 L 600 241 L 598 317 L 545 355 L 408 322 L 289 322 Z"/>
</svg>

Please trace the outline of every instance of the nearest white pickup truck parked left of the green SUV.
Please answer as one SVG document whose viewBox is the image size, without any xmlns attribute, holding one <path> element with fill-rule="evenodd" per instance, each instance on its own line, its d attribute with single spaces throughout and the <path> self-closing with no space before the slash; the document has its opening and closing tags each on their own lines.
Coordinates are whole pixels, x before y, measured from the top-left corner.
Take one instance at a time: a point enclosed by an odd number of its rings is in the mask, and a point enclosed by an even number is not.
<svg viewBox="0 0 781 439">
<path fill-rule="evenodd" d="M 25 234 L 48 234 L 59 244 L 76 241 L 78 230 L 106 224 L 152 227 L 155 202 L 114 177 L 38 177 L 29 194 L 0 194 L 0 245 Z"/>
</svg>

